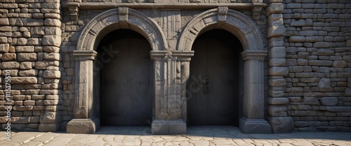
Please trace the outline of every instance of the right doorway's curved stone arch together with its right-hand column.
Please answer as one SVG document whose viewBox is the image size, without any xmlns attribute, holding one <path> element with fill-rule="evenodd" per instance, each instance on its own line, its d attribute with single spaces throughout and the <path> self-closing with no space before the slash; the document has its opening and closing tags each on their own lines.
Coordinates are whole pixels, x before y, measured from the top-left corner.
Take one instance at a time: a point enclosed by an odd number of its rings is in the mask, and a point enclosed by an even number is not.
<svg viewBox="0 0 351 146">
<path fill-rule="evenodd" d="M 271 133 L 270 124 L 264 119 L 264 50 L 259 29 L 246 15 L 226 7 L 207 10 L 194 17 L 183 29 L 177 45 L 179 52 L 189 52 L 197 36 L 211 29 L 225 29 L 239 38 L 244 52 L 243 117 L 239 128 L 244 133 Z M 196 55 L 196 52 L 194 52 Z M 186 66 L 189 71 L 189 65 Z M 187 80 L 188 76 L 184 79 Z"/>
</svg>

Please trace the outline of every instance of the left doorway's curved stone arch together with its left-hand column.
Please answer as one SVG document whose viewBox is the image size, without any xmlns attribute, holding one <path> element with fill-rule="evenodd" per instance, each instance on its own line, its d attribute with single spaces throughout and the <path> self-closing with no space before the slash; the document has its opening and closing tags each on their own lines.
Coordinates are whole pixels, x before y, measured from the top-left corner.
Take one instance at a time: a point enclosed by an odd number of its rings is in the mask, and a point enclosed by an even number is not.
<svg viewBox="0 0 351 146">
<path fill-rule="evenodd" d="M 67 124 L 67 133 L 94 133 L 100 119 L 93 111 L 93 60 L 101 39 L 116 29 L 131 29 L 143 35 L 150 43 L 150 52 L 168 50 L 168 44 L 159 24 L 138 10 L 115 8 L 94 17 L 83 29 L 73 51 L 75 66 L 74 119 Z M 167 52 L 167 51 L 166 51 Z"/>
</svg>

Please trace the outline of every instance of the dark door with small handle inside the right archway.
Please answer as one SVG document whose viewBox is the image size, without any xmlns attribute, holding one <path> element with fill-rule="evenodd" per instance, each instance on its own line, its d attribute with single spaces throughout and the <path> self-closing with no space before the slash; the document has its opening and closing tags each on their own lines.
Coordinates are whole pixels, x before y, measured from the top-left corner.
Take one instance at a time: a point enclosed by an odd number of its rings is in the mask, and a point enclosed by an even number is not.
<svg viewBox="0 0 351 146">
<path fill-rule="evenodd" d="M 239 72 L 234 48 L 204 37 L 197 38 L 192 49 L 195 53 L 187 82 L 187 123 L 236 125 Z"/>
</svg>

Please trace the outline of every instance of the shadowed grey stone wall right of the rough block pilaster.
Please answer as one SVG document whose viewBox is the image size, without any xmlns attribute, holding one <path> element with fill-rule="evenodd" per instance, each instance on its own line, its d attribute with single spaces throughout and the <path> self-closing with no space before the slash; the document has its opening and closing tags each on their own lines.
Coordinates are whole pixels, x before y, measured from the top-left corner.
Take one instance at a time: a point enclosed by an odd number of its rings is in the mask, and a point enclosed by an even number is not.
<svg viewBox="0 0 351 146">
<path fill-rule="evenodd" d="M 284 0 L 285 94 L 297 131 L 351 131 L 351 1 Z"/>
</svg>

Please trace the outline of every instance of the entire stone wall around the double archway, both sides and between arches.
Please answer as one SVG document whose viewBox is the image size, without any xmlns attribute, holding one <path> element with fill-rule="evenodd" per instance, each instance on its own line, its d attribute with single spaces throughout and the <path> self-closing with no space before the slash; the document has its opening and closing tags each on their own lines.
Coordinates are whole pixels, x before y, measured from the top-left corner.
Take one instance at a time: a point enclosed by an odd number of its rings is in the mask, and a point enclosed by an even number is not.
<svg viewBox="0 0 351 146">
<path fill-rule="evenodd" d="M 267 8 L 253 22 L 269 54 L 264 70 L 264 113 L 273 132 L 289 132 L 291 127 L 296 131 L 351 131 L 351 1 L 264 2 Z M 72 20 L 74 10 L 61 8 L 58 0 L 0 0 L 1 129 L 6 126 L 7 105 L 12 105 L 13 129 L 66 129 L 74 119 L 77 98 L 72 54 L 86 24 L 107 10 L 99 8 L 74 9 L 79 13 Z M 161 10 L 137 10 L 162 26 Z M 202 12 L 180 10 L 177 31 Z M 251 10 L 239 12 L 252 17 Z M 171 49 L 176 48 L 172 41 L 179 37 L 167 38 Z M 97 60 L 93 66 L 100 71 L 103 64 Z M 11 71 L 11 102 L 5 100 L 6 70 Z M 94 98 L 93 104 L 99 107 L 98 95 Z"/>
</svg>

